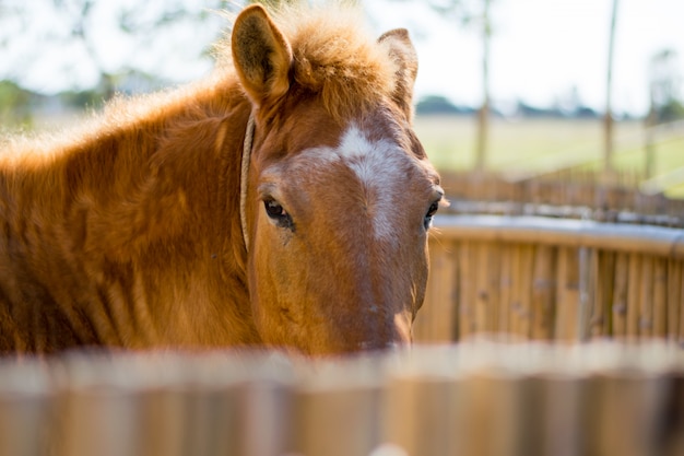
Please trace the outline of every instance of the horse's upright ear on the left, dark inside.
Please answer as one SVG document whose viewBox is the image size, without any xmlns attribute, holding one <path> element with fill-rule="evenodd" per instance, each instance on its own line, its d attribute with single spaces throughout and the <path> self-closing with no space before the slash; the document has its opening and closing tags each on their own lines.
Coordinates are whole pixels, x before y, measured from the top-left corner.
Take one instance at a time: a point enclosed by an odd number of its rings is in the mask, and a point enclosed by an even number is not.
<svg viewBox="0 0 684 456">
<path fill-rule="evenodd" d="M 287 92 L 292 47 L 263 7 L 243 10 L 233 26 L 231 46 L 237 74 L 253 103 L 261 106 Z"/>
</svg>

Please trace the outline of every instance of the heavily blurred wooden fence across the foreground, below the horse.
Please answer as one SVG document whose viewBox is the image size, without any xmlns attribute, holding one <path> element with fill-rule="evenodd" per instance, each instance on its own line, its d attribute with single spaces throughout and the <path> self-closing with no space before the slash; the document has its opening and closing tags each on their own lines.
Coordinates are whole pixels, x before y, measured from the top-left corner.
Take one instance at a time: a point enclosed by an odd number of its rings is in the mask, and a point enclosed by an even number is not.
<svg viewBox="0 0 684 456">
<path fill-rule="evenodd" d="M 1 456 L 679 456 L 672 344 L 0 363 Z"/>
</svg>

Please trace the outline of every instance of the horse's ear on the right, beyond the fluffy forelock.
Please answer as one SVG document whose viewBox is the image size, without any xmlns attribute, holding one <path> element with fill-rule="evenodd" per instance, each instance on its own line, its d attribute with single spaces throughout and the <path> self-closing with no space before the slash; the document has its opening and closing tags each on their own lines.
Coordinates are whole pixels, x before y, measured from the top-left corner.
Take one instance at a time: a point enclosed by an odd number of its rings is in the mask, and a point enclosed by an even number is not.
<svg viewBox="0 0 684 456">
<path fill-rule="evenodd" d="M 413 84 L 418 72 L 418 58 L 409 37 L 409 31 L 397 28 L 385 33 L 378 43 L 388 46 L 389 55 L 397 65 L 396 89 L 392 94 L 409 119 L 413 118 Z"/>
</svg>

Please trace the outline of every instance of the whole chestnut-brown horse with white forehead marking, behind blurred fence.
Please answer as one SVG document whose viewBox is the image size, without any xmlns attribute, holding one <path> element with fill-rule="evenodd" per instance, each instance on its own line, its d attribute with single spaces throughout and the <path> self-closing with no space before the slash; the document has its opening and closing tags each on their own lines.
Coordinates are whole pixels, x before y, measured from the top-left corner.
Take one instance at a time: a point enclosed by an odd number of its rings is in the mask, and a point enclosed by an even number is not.
<svg viewBox="0 0 684 456">
<path fill-rule="evenodd" d="M 208 81 L 7 141 L 0 351 L 409 342 L 443 190 L 406 32 L 357 24 L 252 5 Z"/>
</svg>

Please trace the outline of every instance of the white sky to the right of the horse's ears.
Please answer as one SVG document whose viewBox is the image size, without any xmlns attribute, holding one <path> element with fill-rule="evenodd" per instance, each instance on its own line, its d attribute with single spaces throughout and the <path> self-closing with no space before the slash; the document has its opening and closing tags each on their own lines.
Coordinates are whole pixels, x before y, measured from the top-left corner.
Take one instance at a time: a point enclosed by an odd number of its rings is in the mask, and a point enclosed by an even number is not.
<svg viewBox="0 0 684 456">
<path fill-rule="evenodd" d="M 414 36 L 418 94 L 482 101 L 482 40 L 435 14 L 428 2 L 366 1 L 380 27 L 405 26 Z M 503 107 L 523 100 L 549 106 L 577 89 L 603 110 L 612 0 L 492 0 L 491 92 Z M 679 55 L 684 75 L 684 1 L 620 0 L 613 67 L 613 107 L 640 115 L 649 104 L 648 66 L 663 49 Z M 680 90 L 680 94 L 682 94 Z"/>
</svg>

